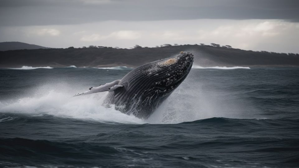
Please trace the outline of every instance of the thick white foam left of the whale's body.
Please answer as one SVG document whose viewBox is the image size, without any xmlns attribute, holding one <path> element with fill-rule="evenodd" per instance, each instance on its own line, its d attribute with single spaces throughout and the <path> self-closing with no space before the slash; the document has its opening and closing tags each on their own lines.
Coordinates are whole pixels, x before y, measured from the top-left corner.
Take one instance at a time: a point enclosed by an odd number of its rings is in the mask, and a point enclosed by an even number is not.
<svg viewBox="0 0 299 168">
<path fill-rule="evenodd" d="M 0 112 L 39 116 L 49 114 L 64 118 L 97 120 L 105 123 L 144 124 L 145 121 L 102 106 L 107 93 L 72 97 L 73 95 L 48 91 L 41 96 L 23 97 L 0 102 Z"/>
</svg>

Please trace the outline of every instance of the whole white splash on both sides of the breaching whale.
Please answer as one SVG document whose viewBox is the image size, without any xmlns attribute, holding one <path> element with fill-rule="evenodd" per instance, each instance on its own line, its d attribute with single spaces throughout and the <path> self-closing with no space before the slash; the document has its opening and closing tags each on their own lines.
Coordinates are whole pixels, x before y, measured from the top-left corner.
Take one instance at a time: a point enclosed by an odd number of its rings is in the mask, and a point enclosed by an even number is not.
<svg viewBox="0 0 299 168">
<path fill-rule="evenodd" d="M 146 121 L 102 106 L 105 92 L 72 97 L 74 87 L 69 84 L 45 84 L 35 92 L 17 100 L 0 101 L 0 112 L 32 115 L 50 114 L 58 117 L 92 119 L 99 122 L 135 124 L 176 124 L 212 117 L 248 118 L 246 105 L 226 102 L 217 91 L 206 91 L 198 77 L 191 71 L 183 83 L 165 100 Z M 49 91 L 52 88 L 52 91 Z M 63 89 L 62 89 L 63 88 Z M 226 94 L 225 94 L 226 96 Z"/>
</svg>

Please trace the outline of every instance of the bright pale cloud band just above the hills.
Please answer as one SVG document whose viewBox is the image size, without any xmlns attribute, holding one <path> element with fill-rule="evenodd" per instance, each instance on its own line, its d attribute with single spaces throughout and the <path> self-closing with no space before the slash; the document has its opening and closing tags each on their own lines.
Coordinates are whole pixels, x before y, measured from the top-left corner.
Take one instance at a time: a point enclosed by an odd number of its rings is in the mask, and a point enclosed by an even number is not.
<svg viewBox="0 0 299 168">
<path fill-rule="evenodd" d="M 102 21 L 80 25 L 0 27 L 0 39 L 54 48 L 217 43 L 246 50 L 299 53 L 299 23 L 214 19 Z"/>
</svg>

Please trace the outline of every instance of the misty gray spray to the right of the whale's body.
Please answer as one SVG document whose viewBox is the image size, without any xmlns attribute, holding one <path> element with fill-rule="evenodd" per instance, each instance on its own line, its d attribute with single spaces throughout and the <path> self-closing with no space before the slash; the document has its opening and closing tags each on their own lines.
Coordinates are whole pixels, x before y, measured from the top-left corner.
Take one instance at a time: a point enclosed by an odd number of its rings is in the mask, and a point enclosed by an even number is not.
<svg viewBox="0 0 299 168">
<path fill-rule="evenodd" d="M 238 99 L 236 97 L 239 95 L 231 95 L 225 90 L 217 91 L 208 80 L 196 80 L 199 75 L 197 70 L 191 70 L 185 81 L 160 105 L 148 122 L 177 124 L 212 117 L 237 119 L 260 117 L 247 113 L 255 109 L 251 101 Z"/>
</svg>

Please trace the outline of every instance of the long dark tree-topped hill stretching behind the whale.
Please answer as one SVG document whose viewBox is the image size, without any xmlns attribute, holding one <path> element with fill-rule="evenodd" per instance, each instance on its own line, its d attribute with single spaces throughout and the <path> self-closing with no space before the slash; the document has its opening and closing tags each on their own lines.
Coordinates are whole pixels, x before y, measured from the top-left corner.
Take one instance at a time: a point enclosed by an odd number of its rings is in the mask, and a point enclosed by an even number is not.
<svg viewBox="0 0 299 168">
<path fill-rule="evenodd" d="M 22 66 L 137 67 L 180 51 L 194 54 L 194 65 L 211 66 L 299 66 L 299 54 L 247 51 L 211 45 L 165 45 L 119 49 L 103 46 L 67 49 L 28 49 L 0 51 L 0 68 Z"/>
</svg>

